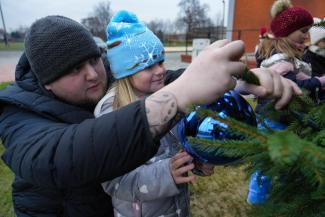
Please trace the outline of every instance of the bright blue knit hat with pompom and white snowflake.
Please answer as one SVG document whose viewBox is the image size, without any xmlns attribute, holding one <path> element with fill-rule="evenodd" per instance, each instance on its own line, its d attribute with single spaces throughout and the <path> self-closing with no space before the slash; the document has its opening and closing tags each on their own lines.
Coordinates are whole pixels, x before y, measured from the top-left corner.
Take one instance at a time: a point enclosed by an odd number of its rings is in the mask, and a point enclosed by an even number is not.
<svg viewBox="0 0 325 217">
<path fill-rule="evenodd" d="M 159 38 L 131 12 L 117 12 L 106 32 L 107 58 L 116 79 L 135 74 L 165 59 Z"/>
</svg>

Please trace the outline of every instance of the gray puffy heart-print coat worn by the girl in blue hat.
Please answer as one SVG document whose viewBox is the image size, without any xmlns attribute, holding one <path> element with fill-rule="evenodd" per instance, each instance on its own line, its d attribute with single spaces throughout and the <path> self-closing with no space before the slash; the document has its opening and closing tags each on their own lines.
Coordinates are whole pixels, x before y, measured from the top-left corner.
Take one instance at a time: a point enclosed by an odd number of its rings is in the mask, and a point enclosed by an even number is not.
<svg viewBox="0 0 325 217">
<path fill-rule="evenodd" d="M 112 111 L 114 90 L 97 105 L 95 116 Z M 180 149 L 176 127 L 160 140 L 158 153 L 130 173 L 102 184 L 118 217 L 189 216 L 187 185 L 176 185 L 169 161 Z"/>
</svg>

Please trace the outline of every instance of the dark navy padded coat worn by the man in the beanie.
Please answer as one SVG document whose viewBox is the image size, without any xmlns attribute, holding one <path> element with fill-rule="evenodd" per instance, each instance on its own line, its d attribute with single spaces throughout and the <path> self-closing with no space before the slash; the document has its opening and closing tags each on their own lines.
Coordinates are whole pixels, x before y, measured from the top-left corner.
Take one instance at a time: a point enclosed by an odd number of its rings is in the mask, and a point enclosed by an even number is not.
<svg viewBox="0 0 325 217">
<path fill-rule="evenodd" d="M 22 55 L 16 82 L 0 91 L 2 159 L 15 173 L 18 217 L 112 216 L 100 183 L 155 155 L 143 100 L 97 119 L 92 109 L 42 89 Z"/>
</svg>

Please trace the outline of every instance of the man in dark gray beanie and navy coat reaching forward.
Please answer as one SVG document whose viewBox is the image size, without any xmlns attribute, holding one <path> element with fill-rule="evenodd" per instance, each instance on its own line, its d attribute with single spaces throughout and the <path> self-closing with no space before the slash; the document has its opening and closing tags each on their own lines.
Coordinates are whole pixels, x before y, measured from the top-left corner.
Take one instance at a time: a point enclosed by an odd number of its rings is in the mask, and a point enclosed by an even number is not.
<svg viewBox="0 0 325 217">
<path fill-rule="evenodd" d="M 66 17 L 36 21 L 26 35 L 16 81 L 0 91 L 2 159 L 15 174 L 16 215 L 112 216 L 100 183 L 153 157 L 187 106 L 210 103 L 234 88 L 233 76 L 244 71 L 243 52 L 240 41 L 216 42 L 174 82 L 95 119 L 94 106 L 108 87 L 91 34 Z M 241 89 L 277 96 L 278 107 L 300 93 L 268 71 L 257 74 L 263 86 L 238 82 Z"/>
</svg>

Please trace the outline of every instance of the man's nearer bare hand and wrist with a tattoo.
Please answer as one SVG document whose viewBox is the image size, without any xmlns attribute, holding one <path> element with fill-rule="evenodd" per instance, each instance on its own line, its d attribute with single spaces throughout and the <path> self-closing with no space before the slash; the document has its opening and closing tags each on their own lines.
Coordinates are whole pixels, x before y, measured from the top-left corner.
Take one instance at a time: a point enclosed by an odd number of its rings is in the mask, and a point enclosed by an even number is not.
<svg viewBox="0 0 325 217">
<path fill-rule="evenodd" d="M 177 111 L 191 104 L 207 104 L 236 85 L 233 77 L 244 71 L 239 61 L 244 53 L 242 41 L 217 41 L 203 50 L 174 82 L 146 99 L 148 123 L 153 136 L 169 130 Z"/>
</svg>

